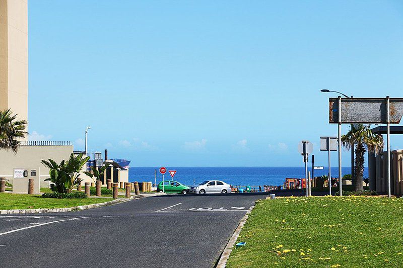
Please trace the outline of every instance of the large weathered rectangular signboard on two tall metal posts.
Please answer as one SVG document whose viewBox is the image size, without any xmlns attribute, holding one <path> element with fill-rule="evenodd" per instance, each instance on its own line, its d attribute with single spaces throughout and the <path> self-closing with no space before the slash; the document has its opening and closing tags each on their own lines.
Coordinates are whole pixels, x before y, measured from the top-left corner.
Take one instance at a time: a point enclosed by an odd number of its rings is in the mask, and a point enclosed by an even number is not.
<svg viewBox="0 0 403 268">
<path fill-rule="evenodd" d="M 337 113 L 336 113 L 337 112 Z M 339 124 L 339 181 L 341 182 L 341 124 L 386 124 L 387 195 L 390 198 L 390 124 L 400 123 L 402 98 L 329 98 L 329 123 Z M 342 194 L 340 184 L 340 194 Z"/>
</svg>

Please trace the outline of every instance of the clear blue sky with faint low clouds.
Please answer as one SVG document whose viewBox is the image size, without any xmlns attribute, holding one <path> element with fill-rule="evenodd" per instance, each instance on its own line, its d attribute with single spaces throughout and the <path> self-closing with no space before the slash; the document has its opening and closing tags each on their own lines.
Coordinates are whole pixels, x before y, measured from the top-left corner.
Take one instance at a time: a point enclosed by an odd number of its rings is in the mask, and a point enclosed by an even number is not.
<svg viewBox="0 0 403 268">
<path fill-rule="evenodd" d="M 400 1 L 30 1 L 30 138 L 91 126 L 133 166 L 298 166 L 310 140 L 326 165 L 319 89 L 403 97 L 402 49 Z"/>
</svg>

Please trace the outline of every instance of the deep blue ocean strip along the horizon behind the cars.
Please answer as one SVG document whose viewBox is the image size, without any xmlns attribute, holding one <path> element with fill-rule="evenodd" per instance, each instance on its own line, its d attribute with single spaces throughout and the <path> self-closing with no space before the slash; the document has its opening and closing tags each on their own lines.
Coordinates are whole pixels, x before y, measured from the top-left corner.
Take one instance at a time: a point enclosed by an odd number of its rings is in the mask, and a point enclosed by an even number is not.
<svg viewBox="0 0 403 268">
<path fill-rule="evenodd" d="M 129 169 L 129 182 L 153 182 L 154 170 L 157 170 L 157 183 L 162 181 L 162 174 L 159 167 L 131 167 Z M 176 170 L 174 180 L 184 185 L 193 185 L 207 180 L 220 180 L 231 185 L 283 185 L 286 177 L 304 178 L 305 167 L 167 167 L 167 170 Z M 311 167 L 308 168 L 311 170 Z M 314 176 L 327 174 L 328 168 L 323 170 L 315 169 Z M 351 167 L 343 167 L 342 174 L 350 174 Z M 332 177 L 339 176 L 338 167 L 331 168 Z M 368 168 L 364 169 L 364 177 L 368 176 Z M 167 171 L 165 180 L 171 176 Z"/>
</svg>

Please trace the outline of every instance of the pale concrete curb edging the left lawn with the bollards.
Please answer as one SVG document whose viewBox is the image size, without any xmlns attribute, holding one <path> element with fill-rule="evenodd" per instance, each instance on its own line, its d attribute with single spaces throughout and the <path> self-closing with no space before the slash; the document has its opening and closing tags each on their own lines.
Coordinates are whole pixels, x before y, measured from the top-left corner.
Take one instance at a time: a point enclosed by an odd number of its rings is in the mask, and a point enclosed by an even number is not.
<svg viewBox="0 0 403 268">
<path fill-rule="evenodd" d="M 157 195 L 152 195 L 157 196 Z M 117 203 L 127 202 L 130 199 L 139 199 L 144 198 L 147 196 L 144 195 L 137 195 L 137 196 L 130 196 L 130 198 L 119 198 L 112 201 L 104 202 L 104 203 L 97 203 L 91 205 L 83 205 L 71 208 L 59 208 L 59 209 L 9 209 L 9 210 L 0 210 L 0 215 L 4 214 L 26 214 L 26 213 L 56 213 L 56 212 L 69 212 L 69 211 L 76 211 L 76 210 L 84 210 L 84 209 L 92 209 L 98 208 L 103 206 L 109 206 Z M 151 197 L 151 196 L 149 196 Z"/>
</svg>

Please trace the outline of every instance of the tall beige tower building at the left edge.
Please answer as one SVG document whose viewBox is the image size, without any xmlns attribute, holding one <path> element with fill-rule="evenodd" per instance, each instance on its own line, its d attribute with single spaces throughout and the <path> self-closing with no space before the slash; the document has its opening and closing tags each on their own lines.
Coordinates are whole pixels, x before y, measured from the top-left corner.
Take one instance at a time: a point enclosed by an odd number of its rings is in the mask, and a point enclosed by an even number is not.
<svg viewBox="0 0 403 268">
<path fill-rule="evenodd" d="M 28 120 L 28 0 L 0 0 L 0 109 Z"/>
</svg>

